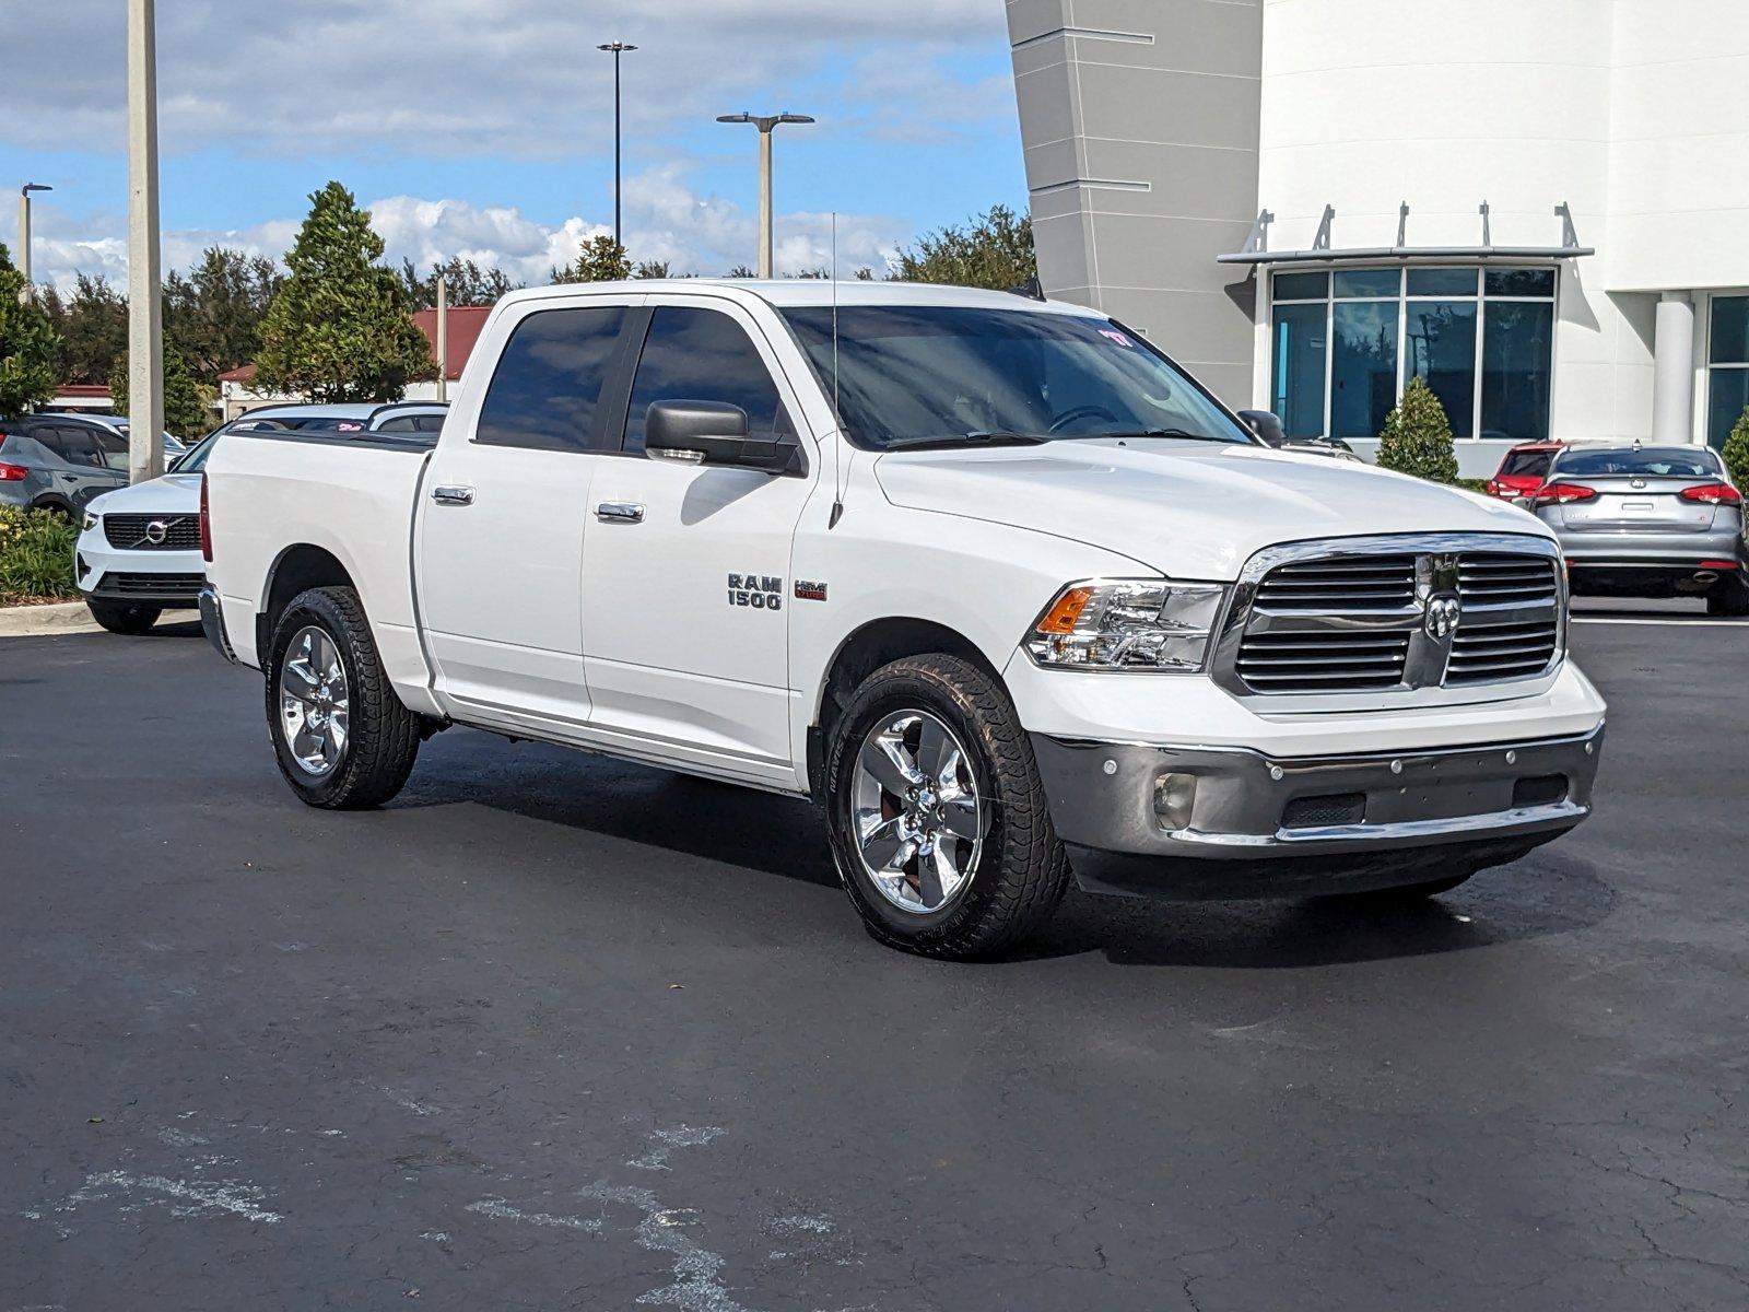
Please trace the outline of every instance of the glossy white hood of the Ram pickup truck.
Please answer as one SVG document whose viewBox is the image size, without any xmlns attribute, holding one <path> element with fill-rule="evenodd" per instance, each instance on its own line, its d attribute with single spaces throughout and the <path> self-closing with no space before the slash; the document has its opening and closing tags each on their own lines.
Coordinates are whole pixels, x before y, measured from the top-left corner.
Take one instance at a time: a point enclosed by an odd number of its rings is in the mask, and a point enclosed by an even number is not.
<svg viewBox="0 0 1749 1312">
<path fill-rule="evenodd" d="M 1091 437 L 892 451 L 874 464 L 874 478 L 894 506 L 1070 537 L 1177 579 L 1235 579 L 1259 549 L 1310 537 L 1551 537 L 1502 500 L 1265 446 Z"/>
</svg>

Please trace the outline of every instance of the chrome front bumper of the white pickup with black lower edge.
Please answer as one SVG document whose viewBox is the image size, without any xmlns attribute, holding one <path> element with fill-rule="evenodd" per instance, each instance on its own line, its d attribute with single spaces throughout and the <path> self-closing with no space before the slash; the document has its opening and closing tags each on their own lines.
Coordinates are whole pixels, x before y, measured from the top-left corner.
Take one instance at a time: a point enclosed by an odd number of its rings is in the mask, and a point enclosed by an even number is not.
<svg viewBox="0 0 1749 1312">
<path fill-rule="evenodd" d="M 1438 878 L 1459 847 L 1487 857 L 1481 864 L 1511 861 L 1590 813 L 1602 742 L 1599 724 L 1574 738 L 1272 757 L 1032 735 L 1051 819 L 1083 883 L 1195 885 L 1189 896 L 1415 883 Z M 1181 778 L 1179 805 L 1163 813 L 1165 775 Z M 1188 805 L 1182 777 L 1195 782 Z M 1121 868 L 1123 878 L 1102 868 Z"/>
</svg>

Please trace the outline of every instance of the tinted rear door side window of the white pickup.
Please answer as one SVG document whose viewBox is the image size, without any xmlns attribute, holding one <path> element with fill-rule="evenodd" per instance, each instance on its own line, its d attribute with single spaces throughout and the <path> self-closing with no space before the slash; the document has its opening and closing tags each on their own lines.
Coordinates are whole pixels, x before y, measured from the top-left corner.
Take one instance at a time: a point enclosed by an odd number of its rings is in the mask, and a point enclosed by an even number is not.
<svg viewBox="0 0 1749 1312">
<path fill-rule="evenodd" d="M 474 441 L 542 451 L 588 450 L 624 317 L 619 306 L 528 315 L 491 374 Z"/>
</svg>

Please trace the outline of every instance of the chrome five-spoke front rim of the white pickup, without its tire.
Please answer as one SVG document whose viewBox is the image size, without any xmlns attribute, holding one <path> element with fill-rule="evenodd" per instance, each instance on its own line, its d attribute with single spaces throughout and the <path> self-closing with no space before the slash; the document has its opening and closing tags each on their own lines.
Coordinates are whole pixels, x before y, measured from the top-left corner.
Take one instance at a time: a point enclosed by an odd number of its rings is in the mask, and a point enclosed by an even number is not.
<svg viewBox="0 0 1749 1312">
<path fill-rule="evenodd" d="M 925 915 L 971 882 L 988 806 L 953 729 L 927 710 L 901 710 L 862 740 L 850 819 L 874 887 L 901 911 Z"/>
</svg>

